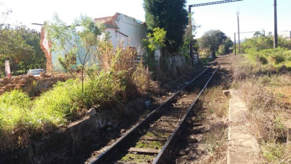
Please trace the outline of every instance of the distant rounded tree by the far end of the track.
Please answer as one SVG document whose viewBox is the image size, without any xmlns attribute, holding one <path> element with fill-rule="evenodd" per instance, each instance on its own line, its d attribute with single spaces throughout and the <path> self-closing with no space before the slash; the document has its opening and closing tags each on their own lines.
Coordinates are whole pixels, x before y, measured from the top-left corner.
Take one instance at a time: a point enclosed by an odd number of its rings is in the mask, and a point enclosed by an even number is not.
<svg viewBox="0 0 291 164">
<path fill-rule="evenodd" d="M 220 30 L 210 30 L 205 32 L 205 34 L 199 39 L 199 46 L 203 49 L 209 49 L 215 57 L 215 51 L 218 50 L 219 45 L 226 40 L 227 37 L 224 32 Z"/>
</svg>

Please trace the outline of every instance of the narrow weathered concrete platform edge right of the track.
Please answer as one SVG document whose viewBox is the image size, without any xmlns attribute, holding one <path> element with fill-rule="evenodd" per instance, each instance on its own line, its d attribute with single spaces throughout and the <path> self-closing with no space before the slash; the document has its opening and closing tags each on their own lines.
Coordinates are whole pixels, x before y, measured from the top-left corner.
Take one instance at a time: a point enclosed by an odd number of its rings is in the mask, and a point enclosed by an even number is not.
<svg viewBox="0 0 291 164">
<path fill-rule="evenodd" d="M 247 108 L 239 98 L 237 90 L 229 90 L 231 99 L 229 102 L 229 133 L 227 148 L 228 164 L 253 163 L 254 157 L 259 152 L 259 145 L 255 138 L 248 134 L 239 124 Z"/>
</svg>

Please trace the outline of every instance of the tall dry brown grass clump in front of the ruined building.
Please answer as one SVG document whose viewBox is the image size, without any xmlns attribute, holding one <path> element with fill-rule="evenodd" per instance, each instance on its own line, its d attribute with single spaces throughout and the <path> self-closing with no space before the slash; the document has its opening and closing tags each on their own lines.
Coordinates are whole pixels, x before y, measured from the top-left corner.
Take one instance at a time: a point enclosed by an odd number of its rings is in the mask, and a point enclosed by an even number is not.
<svg viewBox="0 0 291 164">
<path fill-rule="evenodd" d="M 101 44 L 98 64 L 100 67 L 116 76 L 124 84 L 122 96 L 126 99 L 134 99 L 141 92 L 150 90 L 152 72 L 142 63 L 137 62 L 138 51 L 132 47 L 124 47 L 119 42 L 114 48 L 110 41 Z"/>
</svg>

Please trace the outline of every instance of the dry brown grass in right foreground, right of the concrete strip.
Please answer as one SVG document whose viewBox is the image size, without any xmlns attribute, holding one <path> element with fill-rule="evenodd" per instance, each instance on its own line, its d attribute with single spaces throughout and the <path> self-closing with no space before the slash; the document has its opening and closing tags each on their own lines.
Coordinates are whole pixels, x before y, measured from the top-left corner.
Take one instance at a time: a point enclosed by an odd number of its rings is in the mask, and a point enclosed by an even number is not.
<svg viewBox="0 0 291 164">
<path fill-rule="evenodd" d="M 273 93 L 255 80 L 244 81 L 240 89 L 247 105 L 245 128 L 259 142 L 260 162 L 289 163 L 291 161 L 291 131 L 284 124 L 290 119 L 289 109 L 285 109 Z"/>
</svg>

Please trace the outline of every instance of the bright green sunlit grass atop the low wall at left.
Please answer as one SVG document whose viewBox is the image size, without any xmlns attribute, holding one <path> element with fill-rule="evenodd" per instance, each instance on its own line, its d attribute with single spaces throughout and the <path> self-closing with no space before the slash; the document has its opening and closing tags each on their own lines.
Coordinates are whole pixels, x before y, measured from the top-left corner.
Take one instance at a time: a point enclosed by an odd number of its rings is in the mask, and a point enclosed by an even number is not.
<svg viewBox="0 0 291 164">
<path fill-rule="evenodd" d="M 58 82 L 34 100 L 20 90 L 5 92 L 0 96 L 1 150 L 25 146 L 31 137 L 66 126 L 87 107 L 111 102 L 116 84 L 104 76 L 86 80 L 83 93 L 80 81 L 72 79 Z"/>
</svg>

